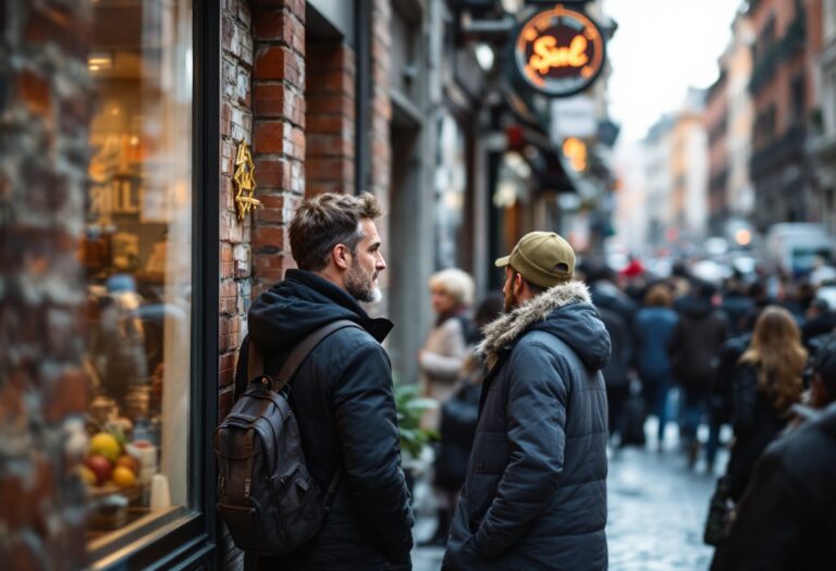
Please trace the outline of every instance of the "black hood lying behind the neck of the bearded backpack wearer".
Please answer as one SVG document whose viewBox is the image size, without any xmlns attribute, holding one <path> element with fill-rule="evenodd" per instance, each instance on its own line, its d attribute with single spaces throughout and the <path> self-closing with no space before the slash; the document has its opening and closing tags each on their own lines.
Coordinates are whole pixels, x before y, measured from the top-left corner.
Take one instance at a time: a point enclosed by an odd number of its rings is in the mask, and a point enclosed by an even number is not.
<svg viewBox="0 0 836 571">
<path fill-rule="evenodd" d="M 261 294 L 249 309 L 249 336 L 261 348 L 287 348 L 314 331 L 349 320 L 382 342 L 392 330 L 385 319 L 372 319 L 347 291 L 305 270 L 287 270 L 285 278 Z"/>
</svg>

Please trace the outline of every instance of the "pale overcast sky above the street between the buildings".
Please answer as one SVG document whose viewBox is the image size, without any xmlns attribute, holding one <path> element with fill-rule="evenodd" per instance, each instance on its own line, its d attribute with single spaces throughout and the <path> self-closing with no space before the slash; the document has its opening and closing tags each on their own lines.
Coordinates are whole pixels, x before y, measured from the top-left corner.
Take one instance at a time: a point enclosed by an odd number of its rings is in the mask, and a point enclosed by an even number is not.
<svg viewBox="0 0 836 571">
<path fill-rule="evenodd" d="M 607 45 L 613 66 L 610 113 L 622 124 L 619 142 L 644 137 L 688 86 L 708 87 L 728 45 L 740 0 L 604 0 L 618 23 Z"/>
</svg>

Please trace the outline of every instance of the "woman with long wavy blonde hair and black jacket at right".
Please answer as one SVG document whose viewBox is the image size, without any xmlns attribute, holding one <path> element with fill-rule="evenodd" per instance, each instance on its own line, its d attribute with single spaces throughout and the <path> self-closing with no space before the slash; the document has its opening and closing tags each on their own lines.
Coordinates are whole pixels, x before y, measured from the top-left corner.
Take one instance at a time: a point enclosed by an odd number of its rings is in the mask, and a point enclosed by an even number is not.
<svg viewBox="0 0 836 571">
<path fill-rule="evenodd" d="M 784 430 L 790 407 L 801 399 L 807 350 L 792 315 L 770 306 L 754 324 L 732 387 L 735 444 L 728 462 L 729 496 L 740 499 L 754 463 Z"/>
</svg>

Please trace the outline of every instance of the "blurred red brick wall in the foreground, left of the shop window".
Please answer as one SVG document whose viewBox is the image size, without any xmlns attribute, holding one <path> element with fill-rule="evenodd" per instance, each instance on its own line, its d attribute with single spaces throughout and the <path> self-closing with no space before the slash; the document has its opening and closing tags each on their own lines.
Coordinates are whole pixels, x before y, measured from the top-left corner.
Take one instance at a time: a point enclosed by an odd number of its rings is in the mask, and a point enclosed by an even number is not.
<svg viewBox="0 0 836 571">
<path fill-rule="evenodd" d="M 0 560 L 81 569 L 89 5 L 7 1 L 0 33 Z"/>
</svg>

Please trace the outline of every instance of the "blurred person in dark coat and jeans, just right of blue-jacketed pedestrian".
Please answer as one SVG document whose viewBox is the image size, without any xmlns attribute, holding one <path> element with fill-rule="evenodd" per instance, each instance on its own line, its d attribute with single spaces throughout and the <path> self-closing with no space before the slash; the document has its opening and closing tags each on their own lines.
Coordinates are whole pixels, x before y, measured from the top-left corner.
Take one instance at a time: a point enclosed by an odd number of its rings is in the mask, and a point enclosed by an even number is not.
<svg viewBox="0 0 836 571">
<path fill-rule="evenodd" d="M 697 430 L 708 410 L 717 350 L 728 334 L 726 316 L 713 305 L 715 293 L 713 285 L 700 282 L 692 294 L 680 298 L 681 313 L 668 346 L 674 376 L 684 397 L 680 434 L 691 467 L 700 451 Z"/>
</svg>

